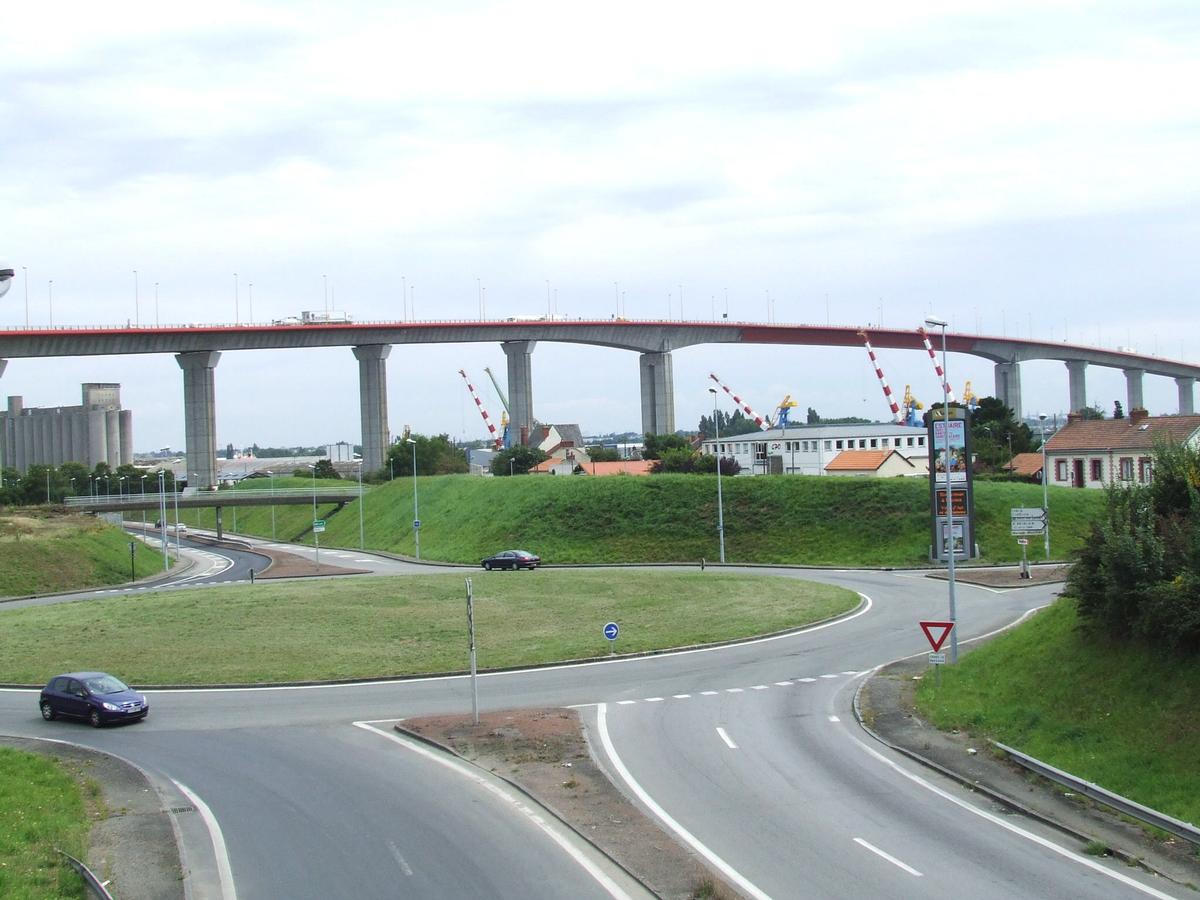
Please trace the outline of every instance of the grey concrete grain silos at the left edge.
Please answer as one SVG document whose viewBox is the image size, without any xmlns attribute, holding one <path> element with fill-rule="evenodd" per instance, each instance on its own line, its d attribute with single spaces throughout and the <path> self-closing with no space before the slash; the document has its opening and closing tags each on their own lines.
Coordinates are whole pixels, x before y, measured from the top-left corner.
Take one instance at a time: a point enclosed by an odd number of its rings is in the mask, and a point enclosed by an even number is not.
<svg viewBox="0 0 1200 900">
<path fill-rule="evenodd" d="M 133 462 L 133 413 L 121 409 L 121 385 L 84 384 L 77 407 L 26 409 L 23 397 L 8 397 L 0 410 L 0 464 L 24 473 L 65 462 L 114 469 Z"/>
</svg>

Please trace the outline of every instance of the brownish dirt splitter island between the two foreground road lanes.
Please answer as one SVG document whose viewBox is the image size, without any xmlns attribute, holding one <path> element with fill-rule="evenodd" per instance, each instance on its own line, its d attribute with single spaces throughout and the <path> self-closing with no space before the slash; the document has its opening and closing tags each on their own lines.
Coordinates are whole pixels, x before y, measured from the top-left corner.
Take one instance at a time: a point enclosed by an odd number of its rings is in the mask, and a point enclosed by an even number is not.
<svg viewBox="0 0 1200 900">
<path fill-rule="evenodd" d="M 661 898 L 738 896 L 608 780 L 574 709 L 511 709 L 406 719 L 410 732 L 532 794 Z"/>
</svg>

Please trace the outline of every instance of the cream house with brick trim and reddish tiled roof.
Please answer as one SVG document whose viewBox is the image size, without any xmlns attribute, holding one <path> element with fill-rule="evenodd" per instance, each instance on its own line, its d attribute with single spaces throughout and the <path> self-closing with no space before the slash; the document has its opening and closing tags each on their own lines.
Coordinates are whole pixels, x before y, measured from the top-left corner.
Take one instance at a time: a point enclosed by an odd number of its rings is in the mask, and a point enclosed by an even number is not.
<svg viewBox="0 0 1200 900">
<path fill-rule="evenodd" d="M 1046 440 L 1051 485 L 1106 487 L 1145 485 L 1153 479 L 1152 452 L 1158 442 L 1200 446 L 1200 415 L 1148 415 L 1130 409 L 1128 419 L 1081 419 Z"/>
</svg>

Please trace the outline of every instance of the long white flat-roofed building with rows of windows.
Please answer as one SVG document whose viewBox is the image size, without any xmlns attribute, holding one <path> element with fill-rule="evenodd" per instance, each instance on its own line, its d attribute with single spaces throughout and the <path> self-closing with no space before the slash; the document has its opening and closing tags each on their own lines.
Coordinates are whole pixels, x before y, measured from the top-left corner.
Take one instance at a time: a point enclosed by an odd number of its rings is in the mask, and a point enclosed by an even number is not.
<svg viewBox="0 0 1200 900">
<path fill-rule="evenodd" d="M 749 475 L 826 475 L 826 467 L 846 450 L 895 450 L 926 473 L 925 428 L 877 422 L 871 425 L 797 425 L 752 434 L 708 439 L 701 452 L 733 458 Z"/>
</svg>

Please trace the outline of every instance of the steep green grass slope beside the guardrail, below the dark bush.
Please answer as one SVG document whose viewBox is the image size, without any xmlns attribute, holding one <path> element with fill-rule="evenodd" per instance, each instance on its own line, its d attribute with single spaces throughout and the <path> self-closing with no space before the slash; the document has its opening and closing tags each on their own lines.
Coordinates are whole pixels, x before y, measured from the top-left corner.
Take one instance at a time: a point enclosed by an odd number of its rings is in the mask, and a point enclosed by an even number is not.
<svg viewBox="0 0 1200 900">
<path fill-rule="evenodd" d="M 1200 822 L 1200 660 L 1085 634 L 1070 600 L 922 680 L 941 728 L 1000 740 L 1074 775 Z"/>
</svg>

